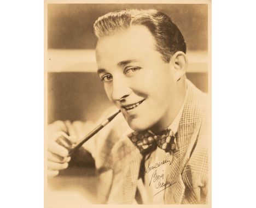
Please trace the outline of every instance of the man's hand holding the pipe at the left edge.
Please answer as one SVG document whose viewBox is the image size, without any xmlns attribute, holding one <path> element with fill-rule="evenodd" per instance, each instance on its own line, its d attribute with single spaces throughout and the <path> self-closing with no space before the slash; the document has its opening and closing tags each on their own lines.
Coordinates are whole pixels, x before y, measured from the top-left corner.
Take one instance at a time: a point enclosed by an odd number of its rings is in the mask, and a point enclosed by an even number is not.
<svg viewBox="0 0 256 208">
<path fill-rule="evenodd" d="M 53 178 L 59 171 L 68 167 L 71 157 L 68 157 L 68 150 L 56 142 L 57 139 L 65 137 L 74 143 L 75 136 L 68 136 L 63 121 L 55 121 L 48 126 L 48 177 Z"/>
</svg>

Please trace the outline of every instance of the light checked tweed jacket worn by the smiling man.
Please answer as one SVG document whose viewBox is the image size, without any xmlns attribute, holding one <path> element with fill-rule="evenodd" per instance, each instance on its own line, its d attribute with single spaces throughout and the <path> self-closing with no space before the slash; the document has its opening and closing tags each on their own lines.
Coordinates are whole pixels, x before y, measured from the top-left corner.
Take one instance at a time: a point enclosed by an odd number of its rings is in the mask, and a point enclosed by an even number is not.
<svg viewBox="0 0 256 208">
<path fill-rule="evenodd" d="M 178 151 L 170 166 L 165 204 L 206 204 L 208 192 L 207 95 L 187 80 L 188 91 L 177 131 Z M 106 117 L 105 117 L 106 118 Z M 127 137 L 119 114 L 92 140 L 95 145 L 97 197 L 101 204 L 132 204 L 135 199 L 142 155 Z"/>
</svg>

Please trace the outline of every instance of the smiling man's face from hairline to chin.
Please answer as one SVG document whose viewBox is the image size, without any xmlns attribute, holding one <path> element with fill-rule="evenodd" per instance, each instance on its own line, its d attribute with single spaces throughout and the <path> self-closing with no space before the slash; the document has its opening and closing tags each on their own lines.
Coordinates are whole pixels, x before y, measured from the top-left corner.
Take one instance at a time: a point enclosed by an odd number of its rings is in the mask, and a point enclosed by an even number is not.
<svg viewBox="0 0 256 208">
<path fill-rule="evenodd" d="M 101 38 L 96 59 L 108 99 L 121 110 L 131 129 L 166 125 L 174 105 L 173 69 L 155 50 L 155 39 L 147 27 L 131 26 Z"/>
</svg>

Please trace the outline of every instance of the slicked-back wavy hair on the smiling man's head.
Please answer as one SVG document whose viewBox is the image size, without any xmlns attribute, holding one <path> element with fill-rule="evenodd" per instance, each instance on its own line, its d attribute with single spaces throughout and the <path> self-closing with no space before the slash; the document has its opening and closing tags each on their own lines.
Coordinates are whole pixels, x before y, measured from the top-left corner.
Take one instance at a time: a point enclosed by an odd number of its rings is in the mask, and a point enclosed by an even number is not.
<svg viewBox="0 0 256 208">
<path fill-rule="evenodd" d="M 114 11 L 99 17 L 94 23 L 97 38 L 113 35 L 128 29 L 132 25 L 146 26 L 156 41 L 156 51 L 162 54 L 165 63 L 177 51 L 186 53 L 186 44 L 181 31 L 171 18 L 154 9 L 127 9 Z"/>
</svg>

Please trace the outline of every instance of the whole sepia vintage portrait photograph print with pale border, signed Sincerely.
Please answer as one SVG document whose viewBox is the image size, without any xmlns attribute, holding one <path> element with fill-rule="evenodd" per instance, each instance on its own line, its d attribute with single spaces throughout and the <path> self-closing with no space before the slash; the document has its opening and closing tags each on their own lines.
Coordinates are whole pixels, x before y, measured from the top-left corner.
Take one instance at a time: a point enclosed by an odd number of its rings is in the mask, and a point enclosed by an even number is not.
<svg viewBox="0 0 256 208">
<path fill-rule="evenodd" d="M 211 1 L 44 2 L 45 207 L 211 207 Z"/>
</svg>

